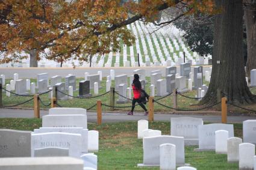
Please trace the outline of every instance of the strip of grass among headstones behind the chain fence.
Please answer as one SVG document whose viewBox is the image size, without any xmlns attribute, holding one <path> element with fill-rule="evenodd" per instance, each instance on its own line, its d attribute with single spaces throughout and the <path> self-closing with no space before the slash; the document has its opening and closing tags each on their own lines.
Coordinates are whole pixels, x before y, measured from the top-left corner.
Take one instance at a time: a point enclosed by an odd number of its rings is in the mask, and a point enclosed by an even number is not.
<svg viewBox="0 0 256 170">
<path fill-rule="evenodd" d="M 64 81 L 64 79 L 62 79 Z M 84 80 L 83 78 L 77 78 L 76 79 L 76 91 L 73 91 L 73 96 L 77 96 L 79 93 L 78 90 L 78 85 L 79 82 L 81 80 Z M 146 80 L 148 81 L 148 83 L 146 83 L 146 92 L 148 94 L 150 94 L 150 77 L 146 77 Z M 36 83 L 37 80 L 36 79 L 31 79 L 31 82 Z M 130 77 L 128 77 L 128 85 L 130 84 Z M 6 84 L 10 83 L 10 79 L 6 79 Z M 204 84 L 208 85 L 208 82 L 204 80 L 203 82 Z M 102 82 L 100 84 L 100 88 L 99 89 L 99 94 L 104 94 L 106 93 L 106 77 L 102 77 Z M 114 80 L 112 80 L 111 82 L 111 87 L 114 87 Z M 256 87 L 254 88 L 250 88 L 252 94 L 256 94 Z M 68 94 L 68 91 L 65 92 L 66 94 Z M 93 92 L 93 89 L 90 90 L 90 93 L 92 93 L 92 97 L 98 96 L 95 95 Z M 133 94 L 133 93 L 132 93 Z M 195 97 L 196 95 L 196 90 L 193 91 L 189 91 L 187 93 L 184 93 L 185 96 L 189 96 L 189 97 Z M 118 94 L 115 94 L 115 101 L 118 100 Z M 25 102 L 27 100 L 32 99 L 33 96 L 30 97 L 24 97 L 24 96 L 15 96 L 14 94 L 11 94 L 11 97 L 7 97 L 5 95 L 5 91 L 2 92 L 2 103 L 3 106 L 12 106 L 12 105 L 16 105 L 22 102 Z M 155 97 L 154 99 L 160 99 L 161 97 Z M 40 95 L 40 99 L 42 100 L 42 102 L 40 102 L 40 108 L 41 109 L 49 109 L 51 106 L 47 106 L 49 105 L 49 103 L 51 102 L 51 100 L 49 99 L 49 93 Z M 69 100 L 58 100 L 58 105 L 63 106 L 63 107 L 67 107 L 67 108 L 85 108 L 85 109 L 89 109 L 92 106 L 94 106 L 97 102 L 97 100 L 101 100 L 102 104 L 106 104 L 106 105 L 110 105 L 110 93 L 104 94 L 103 96 L 99 96 L 99 97 L 95 97 L 92 99 L 69 99 Z M 170 106 L 173 107 L 173 96 L 167 96 L 161 100 L 158 100 L 158 102 L 160 102 L 163 105 L 166 106 Z M 116 103 L 116 102 L 115 102 Z M 201 106 L 197 105 L 199 103 L 198 100 L 196 99 L 188 99 L 186 97 L 180 96 L 178 95 L 178 108 L 179 109 L 184 109 L 184 110 L 190 110 L 190 109 L 197 109 L 197 108 L 202 108 Z M 137 103 L 136 103 L 137 104 Z M 124 103 L 124 104 L 115 104 L 115 106 L 117 107 L 121 107 L 121 108 L 115 108 L 114 111 L 123 111 L 123 112 L 128 112 L 130 111 L 131 107 L 131 100 L 128 100 L 128 102 Z M 27 102 L 23 105 L 19 105 L 16 106 L 17 108 L 33 108 L 33 100 L 31 100 L 30 102 Z M 124 107 L 124 108 L 122 108 Z M 148 104 L 146 104 L 146 107 L 148 107 Z M 256 104 L 253 105 L 245 105 L 243 106 L 247 109 L 251 109 L 251 110 L 255 110 L 256 111 Z M 219 106 L 214 106 L 213 108 L 208 109 L 210 111 L 220 111 L 220 105 Z M 90 111 L 96 111 L 96 106 L 94 106 L 92 109 L 90 109 Z M 107 106 L 103 106 L 102 105 L 102 111 L 111 111 L 111 108 L 107 107 Z M 161 105 L 159 105 L 158 103 L 154 104 L 154 111 L 155 112 L 173 112 L 173 109 L 169 109 L 169 108 L 165 108 Z M 243 109 L 240 108 L 235 108 L 234 106 L 228 106 L 228 111 L 229 113 L 233 114 L 249 114 L 248 111 L 245 111 Z M 140 106 L 136 106 L 135 108 L 135 112 L 143 112 L 143 109 L 140 108 Z"/>
</svg>

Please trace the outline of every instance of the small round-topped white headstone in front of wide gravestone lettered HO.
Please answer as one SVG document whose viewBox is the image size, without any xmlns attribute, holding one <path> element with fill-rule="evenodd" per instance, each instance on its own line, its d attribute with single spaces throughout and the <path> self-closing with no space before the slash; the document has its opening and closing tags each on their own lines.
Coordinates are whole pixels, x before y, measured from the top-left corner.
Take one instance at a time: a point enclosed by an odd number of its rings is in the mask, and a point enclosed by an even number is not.
<svg viewBox="0 0 256 170">
<path fill-rule="evenodd" d="M 160 145 L 160 169 L 176 170 L 176 147 L 173 144 Z"/>
</svg>

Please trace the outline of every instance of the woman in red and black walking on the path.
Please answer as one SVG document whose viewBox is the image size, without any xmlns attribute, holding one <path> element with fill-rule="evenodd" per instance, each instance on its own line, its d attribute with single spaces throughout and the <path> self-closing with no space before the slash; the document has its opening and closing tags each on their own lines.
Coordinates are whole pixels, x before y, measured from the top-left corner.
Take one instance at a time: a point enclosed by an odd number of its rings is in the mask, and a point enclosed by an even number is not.
<svg viewBox="0 0 256 170">
<path fill-rule="evenodd" d="M 142 103 L 143 101 L 140 100 L 140 92 L 142 91 L 142 84 L 140 83 L 138 74 L 134 74 L 134 79 L 131 86 L 133 87 L 133 102 L 131 106 L 131 111 L 128 112 L 128 115 L 133 115 L 136 102 L 139 103 L 140 107 L 142 107 L 142 109 L 145 111 L 144 115 L 148 115 L 148 110 L 146 109 L 145 105 L 143 105 Z"/>
</svg>

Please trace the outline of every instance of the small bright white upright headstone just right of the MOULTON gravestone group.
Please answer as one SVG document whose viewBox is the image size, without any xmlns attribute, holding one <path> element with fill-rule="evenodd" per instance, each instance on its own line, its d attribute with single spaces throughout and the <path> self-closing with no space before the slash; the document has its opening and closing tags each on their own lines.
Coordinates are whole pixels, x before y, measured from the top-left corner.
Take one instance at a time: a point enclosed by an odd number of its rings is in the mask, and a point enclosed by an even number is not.
<svg viewBox="0 0 256 170">
<path fill-rule="evenodd" d="M 88 132 L 88 151 L 98 152 L 99 150 L 99 132 L 96 130 L 89 130 Z"/>
</svg>

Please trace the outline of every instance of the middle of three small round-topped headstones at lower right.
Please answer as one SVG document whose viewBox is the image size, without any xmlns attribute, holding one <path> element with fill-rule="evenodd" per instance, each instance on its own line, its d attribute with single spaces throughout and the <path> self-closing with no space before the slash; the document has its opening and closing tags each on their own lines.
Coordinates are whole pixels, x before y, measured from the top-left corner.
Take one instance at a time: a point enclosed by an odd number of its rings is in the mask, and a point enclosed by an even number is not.
<svg viewBox="0 0 256 170">
<path fill-rule="evenodd" d="M 242 144 L 242 139 L 228 138 L 228 163 L 239 162 L 239 144 Z"/>
</svg>

